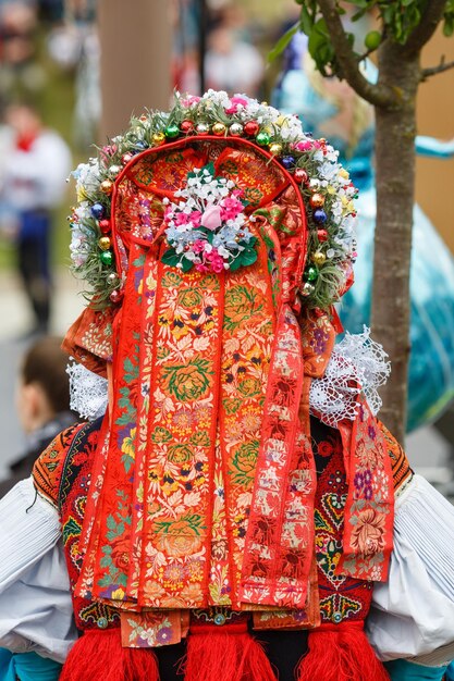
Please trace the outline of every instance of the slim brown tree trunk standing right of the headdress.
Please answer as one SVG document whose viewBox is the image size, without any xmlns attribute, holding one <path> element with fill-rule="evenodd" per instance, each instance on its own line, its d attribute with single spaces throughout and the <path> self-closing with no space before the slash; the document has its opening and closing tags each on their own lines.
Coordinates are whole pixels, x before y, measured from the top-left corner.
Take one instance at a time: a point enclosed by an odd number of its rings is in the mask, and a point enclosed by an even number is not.
<svg viewBox="0 0 454 681">
<path fill-rule="evenodd" d="M 403 444 L 409 357 L 409 263 L 415 193 L 418 57 L 408 58 L 386 40 L 379 50 L 380 83 L 402 99 L 377 108 L 377 226 L 373 257 L 372 334 L 391 359 L 391 377 L 381 391 L 380 417 Z"/>
</svg>

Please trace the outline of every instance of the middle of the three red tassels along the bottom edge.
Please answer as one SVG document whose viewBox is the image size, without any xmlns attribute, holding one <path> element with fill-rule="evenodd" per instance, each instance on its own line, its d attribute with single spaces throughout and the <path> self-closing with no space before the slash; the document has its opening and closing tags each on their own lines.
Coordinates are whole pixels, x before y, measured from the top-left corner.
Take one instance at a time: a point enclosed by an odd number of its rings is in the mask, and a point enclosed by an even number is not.
<svg viewBox="0 0 454 681">
<path fill-rule="evenodd" d="M 184 681 L 277 681 L 261 647 L 242 624 L 192 628 Z"/>
</svg>

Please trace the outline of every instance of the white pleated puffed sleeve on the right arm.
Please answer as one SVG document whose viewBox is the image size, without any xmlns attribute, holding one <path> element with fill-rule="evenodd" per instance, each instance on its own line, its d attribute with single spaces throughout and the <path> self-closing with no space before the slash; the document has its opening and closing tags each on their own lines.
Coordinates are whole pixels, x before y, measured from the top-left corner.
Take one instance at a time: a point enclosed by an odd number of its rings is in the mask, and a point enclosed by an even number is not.
<svg viewBox="0 0 454 681">
<path fill-rule="evenodd" d="M 389 581 L 373 589 L 367 633 L 382 660 L 454 658 L 454 507 L 420 475 L 396 498 Z"/>
</svg>

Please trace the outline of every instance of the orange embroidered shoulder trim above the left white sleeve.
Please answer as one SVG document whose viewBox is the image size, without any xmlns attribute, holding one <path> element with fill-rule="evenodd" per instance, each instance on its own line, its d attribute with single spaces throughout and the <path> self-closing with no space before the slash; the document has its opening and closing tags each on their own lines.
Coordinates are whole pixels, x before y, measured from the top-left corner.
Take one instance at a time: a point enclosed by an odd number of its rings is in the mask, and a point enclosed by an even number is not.
<svg viewBox="0 0 454 681">
<path fill-rule="evenodd" d="M 33 482 L 38 494 L 56 508 L 63 465 L 71 443 L 83 425 L 75 424 L 59 433 L 33 467 Z"/>
</svg>

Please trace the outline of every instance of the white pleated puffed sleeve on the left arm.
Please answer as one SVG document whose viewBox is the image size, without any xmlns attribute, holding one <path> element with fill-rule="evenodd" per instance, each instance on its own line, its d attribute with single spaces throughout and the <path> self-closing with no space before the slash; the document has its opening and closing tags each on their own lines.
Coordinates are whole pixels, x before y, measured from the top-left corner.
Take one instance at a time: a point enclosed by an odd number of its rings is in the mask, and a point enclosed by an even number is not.
<svg viewBox="0 0 454 681">
<path fill-rule="evenodd" d="M 32 478 L 0 499 L 0 646 L 64 661 L 77 633 L 60 537 Z"/>
</svg>

